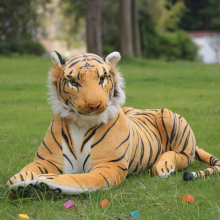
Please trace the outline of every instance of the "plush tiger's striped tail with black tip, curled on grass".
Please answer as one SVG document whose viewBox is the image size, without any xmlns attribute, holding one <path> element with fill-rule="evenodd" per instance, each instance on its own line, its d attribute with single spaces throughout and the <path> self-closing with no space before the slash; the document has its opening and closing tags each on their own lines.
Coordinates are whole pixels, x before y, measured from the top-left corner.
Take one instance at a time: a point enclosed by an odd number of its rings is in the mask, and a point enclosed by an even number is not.
<svg viewBox="0 0 220 220">
<path fill-rule="evenodd" d="M 192 179 L 201 178 L 204 176 L 210 176 L 212 174 L 220 173 L 220 160 L 218 160 L 213 155 L 207 153 L 206 151 L 196 147 L 196 159 L 208 164 L 210 167 L 197 172 L 185 172 L 183 179 L 185 181 L 190 181 Z"/>
</svg>

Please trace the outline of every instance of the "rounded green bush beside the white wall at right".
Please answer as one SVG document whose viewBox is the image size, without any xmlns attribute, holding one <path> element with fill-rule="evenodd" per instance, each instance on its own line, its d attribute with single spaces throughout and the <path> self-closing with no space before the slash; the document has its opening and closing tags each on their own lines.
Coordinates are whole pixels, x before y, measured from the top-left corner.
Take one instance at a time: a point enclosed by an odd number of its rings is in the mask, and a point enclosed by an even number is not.
<svg viewBox="0 0 220 220">
<path fill-rule="evenodd" d="M 141 31 L 141 44 L 145 58 L 162 58 L 167 61 L 193 61 L 197 58 L 198 48 L 184 31 L 158 34 L 151 27 Z"/>
</svg>

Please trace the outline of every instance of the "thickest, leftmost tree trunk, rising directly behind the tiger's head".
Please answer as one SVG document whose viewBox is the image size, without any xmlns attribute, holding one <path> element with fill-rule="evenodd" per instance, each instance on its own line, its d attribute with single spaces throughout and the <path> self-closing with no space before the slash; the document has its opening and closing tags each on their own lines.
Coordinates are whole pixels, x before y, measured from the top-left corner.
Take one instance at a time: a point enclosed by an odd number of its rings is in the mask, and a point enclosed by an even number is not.
<svg viewBox="0 0 220 220">
<path fill-rule="evenodd" d="M 102 56 L 101 0 L 87 0 L 86 35 L 87 52 Z"/>
</svg>

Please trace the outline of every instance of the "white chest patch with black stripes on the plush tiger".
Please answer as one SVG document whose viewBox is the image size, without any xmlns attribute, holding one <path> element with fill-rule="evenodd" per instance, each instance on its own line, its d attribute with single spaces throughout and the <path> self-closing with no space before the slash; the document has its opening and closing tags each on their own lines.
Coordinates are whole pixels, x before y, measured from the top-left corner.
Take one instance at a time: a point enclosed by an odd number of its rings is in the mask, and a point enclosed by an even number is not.
<svg viewBox="0 0 220 220">
<path fill-rule="evenodd" d="M 69 149 L 65 140 L 63 140 L 62 148 L 64 155 L 64 173 L 74 174 L 88 172 L 90 150 L 94 138 L 94 136 L 92 136 L 90 139 L 86 140 L 88 138 L 88 134 L 86 136 L 85 134 L 88 129 L 89 128 L 78 128 L 75 124 L 70 125 L 70 135 L 75 148 L 75 156 Z"/>
</svg>

